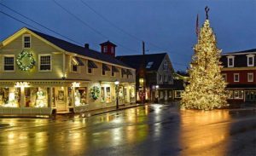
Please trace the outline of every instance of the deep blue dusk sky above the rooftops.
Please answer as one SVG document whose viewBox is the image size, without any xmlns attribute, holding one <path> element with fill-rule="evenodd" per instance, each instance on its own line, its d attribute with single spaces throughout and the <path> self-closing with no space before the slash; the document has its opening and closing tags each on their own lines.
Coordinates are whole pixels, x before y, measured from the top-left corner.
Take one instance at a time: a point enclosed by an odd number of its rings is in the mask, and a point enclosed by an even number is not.
<svg viewBox="0 0 256 156">
<path fill-rule="evenodd" d="M 0 40 L 23 26 L 81 46 L 100 50 L 107 40 L 117 55 L 167 52 L 175 70 L 185 70 L 196 43 L 195 21 L 204 22 L 205 7 L 218 48 L 233 52 L 256 48 L 256 0 L 0 0 Z M 3 5 L 67 37 L 38 26 Z M 60 7 L 61 5 L 61 7 Z M 67 9 L 65 11 L 64 9 Z M 10 18 L 7 14 L 18 19 Z M 74 15 L 71 15 L 74 14 Z M 71 41 L 72 42 L 72 41 Z"/>
</svg>

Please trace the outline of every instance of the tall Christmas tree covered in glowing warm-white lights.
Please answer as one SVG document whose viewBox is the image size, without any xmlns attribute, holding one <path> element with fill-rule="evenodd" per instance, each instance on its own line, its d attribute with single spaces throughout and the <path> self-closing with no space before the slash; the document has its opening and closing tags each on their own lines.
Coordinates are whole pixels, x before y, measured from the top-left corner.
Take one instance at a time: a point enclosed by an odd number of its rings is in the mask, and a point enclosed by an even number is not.
<svg viewBox="0 0 256 156">
<path fill-rule="evenodd" d="M 206 8 L 206 12 L 209 9 Z M 225 82 L 221 75 L 219 61 L 221 50 L 217 48 L 216 38 L 205 20 L 195 44 L 195 54 L 189 68 L 189 84 L 183 92 L 181 108 L 212 110 L 226 105 Z"/>
</svg>

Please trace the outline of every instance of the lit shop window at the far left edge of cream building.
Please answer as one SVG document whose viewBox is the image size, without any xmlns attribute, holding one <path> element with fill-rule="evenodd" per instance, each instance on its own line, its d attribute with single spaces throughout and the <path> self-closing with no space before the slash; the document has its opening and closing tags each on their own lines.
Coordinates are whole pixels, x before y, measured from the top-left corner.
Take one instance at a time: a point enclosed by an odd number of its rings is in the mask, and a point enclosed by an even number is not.
<svg viewBox="0 0 256 156">
<path fill-rule="evenodd" d="M 0 107 L 19 107 L 20 88 L 0 88 Z"/>
</svg>

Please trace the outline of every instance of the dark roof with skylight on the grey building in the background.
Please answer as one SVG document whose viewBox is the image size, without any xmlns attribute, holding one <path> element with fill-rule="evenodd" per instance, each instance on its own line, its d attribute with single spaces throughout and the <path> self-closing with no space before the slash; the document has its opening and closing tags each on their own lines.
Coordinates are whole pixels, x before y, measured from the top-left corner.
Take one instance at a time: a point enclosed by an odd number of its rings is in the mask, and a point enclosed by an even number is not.
<svg viewBox="0 0 256 156">
<path fill-rule="evenodd" d="M 125 62 L 125 64 L 133 68 L 136 68 L 138 70 L 143 63 L 143 57 L 144 57 L 145 59 L 144 67 L 149 72 L 149 71 L 157 71 L 162 61 L 165 59 L 166 55 L 167 53 L 149 54 L 149 55 L 120 55 L 120 56 L 117 56 L 116 58 L 119 61 L 123 61 Z M 150 62 L 153 62 L 153 63 L 150 63 Z M 150 65 L 150 66 L 148 66 L 147 68 L 147 65 Z"/>
</svg>

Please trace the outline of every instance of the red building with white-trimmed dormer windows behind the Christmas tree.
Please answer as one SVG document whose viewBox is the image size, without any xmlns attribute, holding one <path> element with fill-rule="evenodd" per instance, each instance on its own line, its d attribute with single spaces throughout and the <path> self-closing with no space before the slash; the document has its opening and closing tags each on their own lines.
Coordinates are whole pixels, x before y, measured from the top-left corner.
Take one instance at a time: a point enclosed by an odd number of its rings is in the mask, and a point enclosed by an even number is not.
<svg viewBox="0 0 256 156">
<path fill-rule="evenodd" d="M 256 49 L 226 53 L 221 56 L 222 75 L 227 82 L 230 104 L 256 104 Z"/>
</svg>

